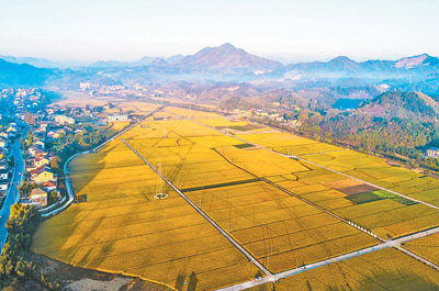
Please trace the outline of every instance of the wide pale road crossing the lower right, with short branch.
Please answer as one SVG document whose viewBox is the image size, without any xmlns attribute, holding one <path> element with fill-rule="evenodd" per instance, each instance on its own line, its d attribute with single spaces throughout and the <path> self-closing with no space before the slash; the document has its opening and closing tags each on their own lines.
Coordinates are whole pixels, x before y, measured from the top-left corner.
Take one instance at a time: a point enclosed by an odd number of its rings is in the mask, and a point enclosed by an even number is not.
<svg viewBox="0 0 439 291">
<path fill-rule="evenodd" d="M 221 290 L 221 291 L 236 291 L 236 290 L 244 290 L 244 289 L 247 289 L 247 288 L 260 286 L 260 284 L 263 284 L 263 283 L 277 282 L 280 279 L 283 279 L 283 278 L 286 278 L 286 277 L 290 277 L 290 276 L 293 276 L 293 275 L 296 275 L 296 273 L 301 273 L 301 272 L 304 272 L 304 271 L 307 271 L 307 270 L 312 270 L 312 269 L 315 269 L 315 268 L 318 268 L 318 267 L 323 267 L 323 266 L 326 266 L 326 265 L 329 265 L 329 264 L 334 264 L 334 262 L 337 262 L 337 261 L 342 261 L 342 260 L 346 260 L 346 259 L 354 258 L 354 257 L 358 257 L 358 256 L 361 256 L 361 255 L 364 255 L 364 254 L 369 254 L 369 253 L 372 253 L 372 251 L 375 251 L 375 250 L 384 249 L 384 248 L 387 248 L 387 247 L 395 247 L 395 248 L 399 249 L 401 251 L 404 251 L 405 254 L 412 253 L 412 251 L 409 251 L 409 250 L 407 250 L 405 248 L 402 248 L 401 244 L 409 242 L 409 240 L 413 240 L 413 239 L 417 239 L 417 238 L 420 238 L 420 237 L 424 237 L 424 236 L 427 236 L 427 235 L 437 234 L 437 233 L 439 233 L 439 227 L 435 227 L 435 228 L 431 228 L 431 230 L 428 230 L 428 231 L 418 232 L 418 233 L 415 233 L 415 234 L 412 234 L 412 235 L 407 235 L 407 236 L 399 237 L 399 238 L 396 238 L 396 239 L 387 240 L 387 242 L 385 242 L 383 244 L 380 244 L 380 245 L 375 245 L 375 246 L 372 246 L 372 247 L 367 247 L 367 248 L 363 248 L 363 249 L 360 249 L 360 250 L 356 250 L 356 251 L 352 251 L 352 253 L 348 253 L 348 254 L 345 254 L 345 255 L 340 255 L 340 256 L 337 256 L 337 257 L 334 257 L 334 258 L 330 258 L 330 259 L 320 260 L 320 261 L 313 262 L 313 264 L 309 264 L 309 265 L 305 265 L 305 266 L 302 266 L 302 267 L 299 267 L 299 268 L 294 268 L 294 269 L 286 270 L 286 271 L 283 271 L 283 272 L 274 273 L 272 276 L 263 277 L 263 278 L 261 278 L 259 280 L 251 280 L 251 281 L 247 281 L 247 282 L 244 282 L 244 283 L 226 287 L 226 288 L 218 289 L 218 290 Z M 416 254 L 413 254 L 413 253 L 412 254 L 407 254 L 407 255 L 417 256 Z M 428 261 L 428 260 L 426 260 L 426 259 L 424 259 L 424 258 L 421 258 L 419 256 L 417 256 L 417 257 L 419 258 L 420 261 L 429 265 L 430 267 L 432 267 L 435 269 L 439 268 L 439 266 L 437 266 L 437 265 L 435 265 L 435 264 L 432 264 L 432 262 L 430 262 L 430 261 Z"/>
</svg>

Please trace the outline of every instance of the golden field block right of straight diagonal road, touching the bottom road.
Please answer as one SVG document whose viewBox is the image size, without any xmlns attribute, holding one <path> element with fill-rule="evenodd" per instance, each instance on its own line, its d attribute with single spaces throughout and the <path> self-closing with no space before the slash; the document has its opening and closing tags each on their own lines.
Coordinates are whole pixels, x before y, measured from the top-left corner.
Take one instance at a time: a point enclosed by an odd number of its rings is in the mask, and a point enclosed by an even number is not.
<svg viewBox="0 0 439 291">
<path fill-rule="evenodd" d="M 266 182 L 189 191 L 187 195 L 272 272 L 378 243 Z"/>
</svg>

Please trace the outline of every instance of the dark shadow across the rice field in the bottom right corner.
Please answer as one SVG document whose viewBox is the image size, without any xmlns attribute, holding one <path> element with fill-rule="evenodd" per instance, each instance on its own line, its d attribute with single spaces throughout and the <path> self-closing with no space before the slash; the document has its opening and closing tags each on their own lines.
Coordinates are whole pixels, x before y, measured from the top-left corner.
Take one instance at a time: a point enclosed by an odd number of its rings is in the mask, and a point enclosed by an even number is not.
<svg viewBox="0 0 439 291">
<path fill-rule="evenodd" d="M 308 290 L 313 290 L 308 284 Z M 348 284 L 329 287 L 327 291 L 349 291 L 352 290 Z M 397 271 L 374 271 L 363 280 L 359 281 L 354 288 L 356 291 L 370 291 L 370 290 L 398 290 L 398 291 L 437 291 L 439 286 L 435 284 L 427 278 L 413 272 L 404 270 Z"/>
</svg>

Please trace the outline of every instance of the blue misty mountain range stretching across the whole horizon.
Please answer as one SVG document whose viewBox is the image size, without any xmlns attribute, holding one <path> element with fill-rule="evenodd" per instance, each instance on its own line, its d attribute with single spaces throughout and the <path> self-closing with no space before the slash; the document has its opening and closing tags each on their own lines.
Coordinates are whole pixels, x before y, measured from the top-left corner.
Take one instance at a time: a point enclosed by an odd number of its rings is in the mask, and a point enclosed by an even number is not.
<svg viewBox="0 0 439 291">
<path fill-rule="evenodd" d="M 44 83 L 45 80 L 87 79 L 124 82 L 144 81 L 266 81 L 294 86 L 354 87 L 383 85 L 435 93 L 439 88 L 439 58 L 423 54 L 398 60 L 354 61 L 346 56 L 329 61 L 283 65 L 237 48 L 232 44 L 205 47 L 200 52 L 168 58 L 143 57 L 136 61 L 100 60 L 74 69 L 56 68 L 54 61 L 38 58 L 2 57 L 1 86 Z M 27 63 L 32 66 L 15 67 Z M 5 64 L 9 64 L 8 66 Z M 46 67 L 46 68 L 36 68 Z M 60 67 L 60 66 L 59 66 Z M 22 72 L 23 74 L 22 74 Z M 31 74 L 35 80 L 26 79 Z M 21 77 L 19 76 L 21 75 Z"/>
</svg>

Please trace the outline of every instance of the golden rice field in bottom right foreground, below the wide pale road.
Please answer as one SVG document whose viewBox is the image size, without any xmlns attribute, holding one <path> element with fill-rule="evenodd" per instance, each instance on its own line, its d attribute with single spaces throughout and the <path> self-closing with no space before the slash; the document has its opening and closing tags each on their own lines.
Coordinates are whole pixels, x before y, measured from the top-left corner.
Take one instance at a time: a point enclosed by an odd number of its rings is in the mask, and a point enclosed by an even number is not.
<svg viewBox="0 0 439 291">
<path fill-rule="evenodd" d="M 271 284 L 263 288 L 272 289 Z M 396 249 L 385 248 L 281 279 L 275 290 L 432 291 L 439 290 L 439 276 L 420 261 Z"/>
</svg>

